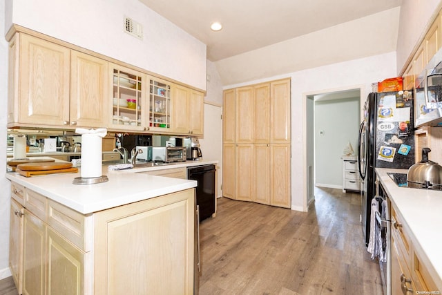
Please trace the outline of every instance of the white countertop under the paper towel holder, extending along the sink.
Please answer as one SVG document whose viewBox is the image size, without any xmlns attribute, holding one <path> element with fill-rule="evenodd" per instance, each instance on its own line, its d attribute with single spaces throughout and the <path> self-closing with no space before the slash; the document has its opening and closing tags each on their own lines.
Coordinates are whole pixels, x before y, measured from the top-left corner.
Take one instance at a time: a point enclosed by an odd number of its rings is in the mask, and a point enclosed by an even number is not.
<svg viewBox="0 0 442 295">
<path fill-rule="evenodd" d="M 198 166 L 218 161 L 195 162 L 183 162 L 182 164 L 176 164 L 176 167 Z M 6 178 L 64 204 L 66 207 L 74 209 L 79 213 L 88 214 L 197 186 L 195 180 L 136 173 L 155 169 L 167 169 L 168 167 L 172 168 L 172 166 L 123 171 L 108 171 L 107 166 L 103 166 L 103 174 L 107 175 L 109 180 L 108 182 L 98 184 L 73 184 L 74 178 L 79 177 L 80 172 L 39 175 L 30 178 L 10 172 L 6 173 Z M 129 171 L 132 173 L 128 173 Z"/>
</svg>

